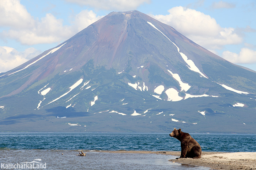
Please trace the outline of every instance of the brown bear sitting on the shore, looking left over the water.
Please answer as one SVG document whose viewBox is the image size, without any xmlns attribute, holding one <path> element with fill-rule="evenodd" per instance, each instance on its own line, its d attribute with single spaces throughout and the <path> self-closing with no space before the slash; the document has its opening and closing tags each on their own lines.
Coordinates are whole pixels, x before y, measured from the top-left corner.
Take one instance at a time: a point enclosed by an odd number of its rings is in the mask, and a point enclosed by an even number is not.
<svg viewBox="0 0 256 170">
<path fill-rule="evenodd" d="M 199 143 L 197 143 L 188 133 L 182 132 L 181 129 L 177 130 L 174 128 L 172 133 L 170 133 L 170 137 L 178 139 L 181 143 L 180 158 L 201 158 L 202 149 Z"/>
</svg>

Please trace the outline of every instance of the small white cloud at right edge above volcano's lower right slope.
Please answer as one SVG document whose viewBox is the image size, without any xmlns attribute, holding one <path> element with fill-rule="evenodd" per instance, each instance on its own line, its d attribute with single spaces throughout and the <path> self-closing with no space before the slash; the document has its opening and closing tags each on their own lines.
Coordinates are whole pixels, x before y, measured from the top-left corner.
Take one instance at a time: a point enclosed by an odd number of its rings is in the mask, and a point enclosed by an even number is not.
<svg viewBox="0 0 256 170">
<path fill-rule="evenodd" d="M 222 58 L 236 64 L 256 63 L 256 51 L 249 48 L 242 48 L 239 54 L 230 51 L 224 51 Z"/>
</svg>

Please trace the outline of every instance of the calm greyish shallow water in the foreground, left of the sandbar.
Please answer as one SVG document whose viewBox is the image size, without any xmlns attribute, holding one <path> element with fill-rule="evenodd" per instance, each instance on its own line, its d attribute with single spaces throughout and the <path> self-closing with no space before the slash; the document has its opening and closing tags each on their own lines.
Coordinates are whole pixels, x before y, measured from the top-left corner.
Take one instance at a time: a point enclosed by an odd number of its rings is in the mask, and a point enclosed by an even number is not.
<svg viewBox="0 0 256 170">
<path fill-rule="evenodd" d="M 36 161 L 52 170 L 206 170 L 208 168 L 173 163 L 173 155 L 103 153 L 88 151 L 86 157 L 76 156 L 77 150 L 0 150 L 0 162 L 17 164 Z M 63 154 L 63 155 L 62 155 Z"/>
</svg>

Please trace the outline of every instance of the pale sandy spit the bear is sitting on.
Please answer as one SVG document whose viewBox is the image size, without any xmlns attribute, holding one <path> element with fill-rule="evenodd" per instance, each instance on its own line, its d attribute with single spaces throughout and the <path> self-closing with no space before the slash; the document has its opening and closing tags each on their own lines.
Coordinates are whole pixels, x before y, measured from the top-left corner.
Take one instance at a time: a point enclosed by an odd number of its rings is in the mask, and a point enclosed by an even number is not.
<svg viewBox="0 0 256 170">
<path fill-rule="evenodd" d="M 103 151 L 105 152 L 105 151 Z M 143 153 L 143 154 L 166 154 L 180 157 L 180 151 L 106 151 L 110 153 Z M 256 152 L 202 152 L 202 158 L 180 158 L 169 160 L 187 165 L 209 167 L 222 170 L 252 170 L 256 169 Z"/>
</svg>

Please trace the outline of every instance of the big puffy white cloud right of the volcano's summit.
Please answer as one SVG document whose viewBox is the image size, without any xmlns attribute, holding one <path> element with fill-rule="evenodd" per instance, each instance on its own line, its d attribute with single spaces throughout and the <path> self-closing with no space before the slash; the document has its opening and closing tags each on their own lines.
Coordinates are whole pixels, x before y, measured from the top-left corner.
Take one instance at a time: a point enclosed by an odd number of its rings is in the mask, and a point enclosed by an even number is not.
<svg viewBox="0 0 256 170">
<path fill-rule="evenodd" d="M 168 12 L 168 15 L 152 17 L 174 27 L 204 48 L 214 51 L 227 44 L 242 42 L 242 36 L 234 28 L 222 28 L 214 18 L 195 9 L 173 7 Z"/>
</svg>

